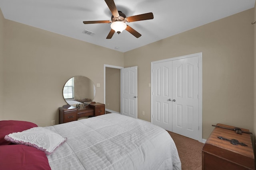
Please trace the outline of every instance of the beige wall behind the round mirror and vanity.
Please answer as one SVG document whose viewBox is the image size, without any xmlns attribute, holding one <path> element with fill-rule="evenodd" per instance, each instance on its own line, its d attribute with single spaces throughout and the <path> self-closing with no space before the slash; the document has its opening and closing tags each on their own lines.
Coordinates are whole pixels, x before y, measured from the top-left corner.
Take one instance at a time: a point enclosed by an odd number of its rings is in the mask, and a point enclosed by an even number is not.
<svg viewBox="0 0 256 170">
<path fill-rule="evenodd" d="M 4 20 L 4 33 L 2 119 L 58 123 L 58 107 L 66 104 L 62 89 L 72 76 L 100 83 L 94 101 L 103 103 L 104 64 L 124 63 L 124 53 L 14 21 Z"/>
</svg>

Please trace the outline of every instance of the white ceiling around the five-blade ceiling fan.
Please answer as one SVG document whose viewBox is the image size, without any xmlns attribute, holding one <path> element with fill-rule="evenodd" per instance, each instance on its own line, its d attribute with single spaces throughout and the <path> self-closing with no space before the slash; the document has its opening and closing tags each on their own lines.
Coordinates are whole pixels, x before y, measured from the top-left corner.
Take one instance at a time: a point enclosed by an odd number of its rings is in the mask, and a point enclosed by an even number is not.
<svg viewBox="0 0 256 170">
<path fill-rule="evenodd" d="M 126 16 L 152 12 L 153 20 L 131 22 L 142 34 L 136 38 L 124 30 L 106 39 L 111 20 L 104 0 L 0 0 L 5 19 L 126 52 L 215 20 L 254 8 L 255 0 L 114 0 Z M 86 35 L 84 30 L 95 33 Z"/>
</svg>

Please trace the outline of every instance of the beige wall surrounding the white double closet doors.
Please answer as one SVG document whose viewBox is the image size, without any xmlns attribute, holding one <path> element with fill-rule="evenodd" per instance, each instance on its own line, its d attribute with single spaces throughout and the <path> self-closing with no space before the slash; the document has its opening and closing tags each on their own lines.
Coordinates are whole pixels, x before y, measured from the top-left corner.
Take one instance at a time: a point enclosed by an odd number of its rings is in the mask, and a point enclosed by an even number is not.
<svg viewBox="0 0 256 170">
<path fill-rule="evenodd" d="M 203 139 L 216 123 L 252 131 L 253 20 L 250 9 L 126 52 L 124 67 L 138 66 L 138 118 L 150 121 L 150 63 L 202 52 Z"/>
</svg>

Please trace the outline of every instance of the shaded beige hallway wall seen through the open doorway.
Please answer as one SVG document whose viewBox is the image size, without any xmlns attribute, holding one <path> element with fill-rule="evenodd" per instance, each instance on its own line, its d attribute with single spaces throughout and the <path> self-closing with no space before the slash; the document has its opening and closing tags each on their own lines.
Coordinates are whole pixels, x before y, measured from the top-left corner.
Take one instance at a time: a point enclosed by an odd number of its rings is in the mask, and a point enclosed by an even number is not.
<svg viewBox="0 0 256 170">
<path fill-rule="evenodd" d="M 120 69 L 106 67 L 106 109 L 120 113 Z"/>
</svg>

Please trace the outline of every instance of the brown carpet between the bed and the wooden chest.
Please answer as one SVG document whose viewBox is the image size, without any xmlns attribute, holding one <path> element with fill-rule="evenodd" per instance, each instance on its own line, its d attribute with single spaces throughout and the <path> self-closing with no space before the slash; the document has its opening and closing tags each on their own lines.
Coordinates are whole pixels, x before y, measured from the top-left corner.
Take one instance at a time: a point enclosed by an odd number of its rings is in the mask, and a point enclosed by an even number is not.
<svg viewBox="0 0 256 170">
<path fill-rule="evenodd" d="M 168 131 L 177 147 L 182 170 L 202 170 L 203 143 Z"/>
</svg>

